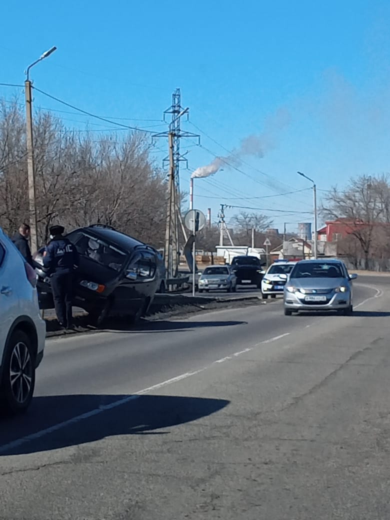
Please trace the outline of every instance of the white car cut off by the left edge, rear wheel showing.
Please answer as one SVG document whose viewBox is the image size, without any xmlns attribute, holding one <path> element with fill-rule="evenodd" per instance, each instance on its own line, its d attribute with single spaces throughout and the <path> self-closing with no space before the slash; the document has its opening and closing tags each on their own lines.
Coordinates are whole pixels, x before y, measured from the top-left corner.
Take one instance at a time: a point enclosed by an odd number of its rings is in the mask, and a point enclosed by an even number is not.
<svg viewBox="0 0 390 520">
<path fill-rule="evenodd" d="M 36 274 L 0 228 L 0 410 L 30 405 L 35 369 L 43 358 L 46 326 L 40 316 Z"/>
</svg>

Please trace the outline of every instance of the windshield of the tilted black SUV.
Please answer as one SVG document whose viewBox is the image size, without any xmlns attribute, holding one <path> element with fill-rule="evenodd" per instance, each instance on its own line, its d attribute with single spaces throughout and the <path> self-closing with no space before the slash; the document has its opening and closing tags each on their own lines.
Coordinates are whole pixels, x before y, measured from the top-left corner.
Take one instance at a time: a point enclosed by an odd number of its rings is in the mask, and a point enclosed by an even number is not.
<svg viewBox="0 0 390 520">
<path fill-rule="evenodd" d="M 85 231 L 75 231 L 67 238 L 81 256 L 115 271 L 122 269 L 127 255 L 116 246 Z"/>
</svg>

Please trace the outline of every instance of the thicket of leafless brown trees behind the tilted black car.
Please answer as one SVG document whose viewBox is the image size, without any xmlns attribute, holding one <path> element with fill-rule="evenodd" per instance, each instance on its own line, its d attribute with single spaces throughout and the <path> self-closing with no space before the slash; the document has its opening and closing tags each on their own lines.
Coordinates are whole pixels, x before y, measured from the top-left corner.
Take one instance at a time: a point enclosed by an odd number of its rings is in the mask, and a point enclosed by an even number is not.
<svg viewBox="0 0 390 520">
<path fill-rule="evenodd" d="M 162 245 L 166 186 L 144 136 L 81 134 L 44 111 L 34 120 L 39 243 L 54 223 L 68 229 L 100 223 Z M 0 226 L 9 233 L 29 220 L 25 149 L 17 100 L 10 106 L 0 100 Z"/>
</svg>

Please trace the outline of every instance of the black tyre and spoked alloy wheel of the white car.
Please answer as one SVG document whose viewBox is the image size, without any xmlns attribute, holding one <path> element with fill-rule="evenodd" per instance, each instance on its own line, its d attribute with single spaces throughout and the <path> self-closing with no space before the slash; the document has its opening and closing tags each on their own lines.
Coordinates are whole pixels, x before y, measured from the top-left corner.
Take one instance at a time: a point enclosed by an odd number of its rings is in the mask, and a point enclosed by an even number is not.
<svg viewBox="0 0 390 520">
<path fill-rule="evenodd" d="M 35 386 L 35 355 L 29 337 L 15 331 L 6 347 L 0 387 L 1 409 L 11 414 L 29 407 Z"/>
</svg>

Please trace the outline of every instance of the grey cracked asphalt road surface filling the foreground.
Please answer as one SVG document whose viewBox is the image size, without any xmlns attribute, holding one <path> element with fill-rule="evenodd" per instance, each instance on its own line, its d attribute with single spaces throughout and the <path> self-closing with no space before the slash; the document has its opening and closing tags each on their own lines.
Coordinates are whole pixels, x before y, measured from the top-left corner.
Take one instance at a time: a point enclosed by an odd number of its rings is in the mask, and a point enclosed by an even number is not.
<svg viewBox="0 0 390 520">
<path fill-rule="evenodd" d="M 0 518 L 388 520 L 388 283 L 351 317 L 276 301 L 48 341 L 0 422 Z"/>
</svg>

